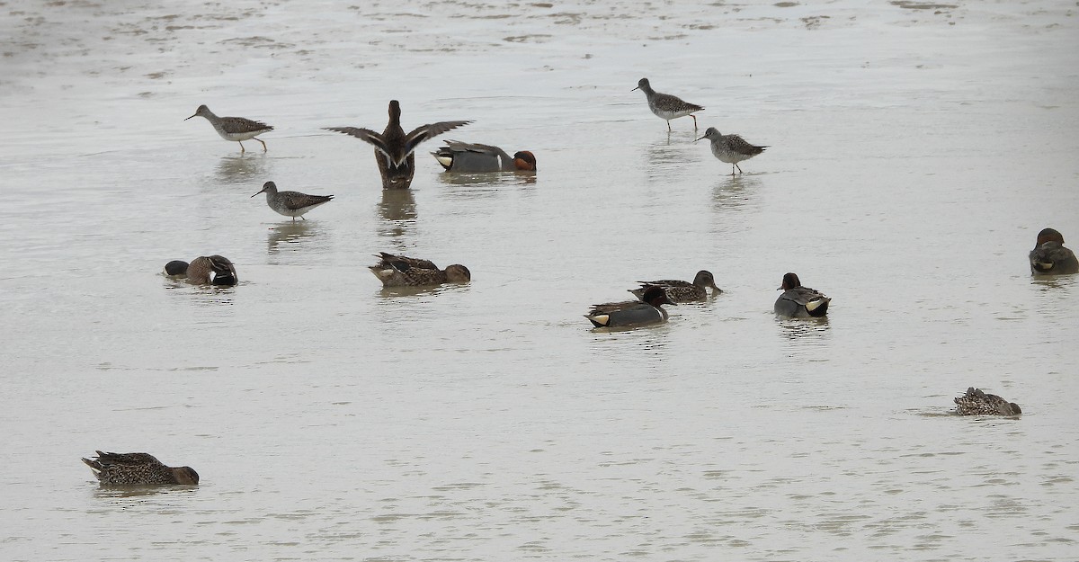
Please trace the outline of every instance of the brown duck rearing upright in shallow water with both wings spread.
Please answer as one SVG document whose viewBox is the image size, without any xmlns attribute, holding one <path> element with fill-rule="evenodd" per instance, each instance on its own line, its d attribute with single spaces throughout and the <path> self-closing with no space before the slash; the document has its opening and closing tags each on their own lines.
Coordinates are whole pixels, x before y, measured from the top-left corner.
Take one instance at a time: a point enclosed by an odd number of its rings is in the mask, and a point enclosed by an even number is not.
<svg viewBox="0 0 1079 562">
<path fill-rule="evenodd" d="M 382 134 L 359 127 L 324 127 L 326 131 L 352 135 L 374 146 L 374 160 L 382 175 L 382 189 L 408 189 L 415 175 L 415 148 L 424 140 L 447 131 L 467 125 L 472 121 L 440 121 L 420 125 L 408 135 L 401 128 L 401 106 L 390 101 L 390 122 Z"/>
</svg>

